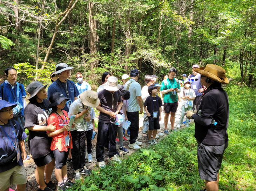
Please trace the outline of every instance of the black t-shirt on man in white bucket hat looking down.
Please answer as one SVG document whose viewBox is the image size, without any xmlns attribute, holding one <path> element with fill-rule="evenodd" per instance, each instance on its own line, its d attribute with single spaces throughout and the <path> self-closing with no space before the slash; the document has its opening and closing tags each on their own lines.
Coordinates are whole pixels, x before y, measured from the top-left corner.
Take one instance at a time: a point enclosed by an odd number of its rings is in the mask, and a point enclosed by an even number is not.
<svg viewBox="0 0 256 191">
<path fill-rule="evenodd" d="M 113 94 L 113 96 L 112 96 Z M 98 92 L 98 98 L 100 99 L 101 107 L 107 111 L 116 112 L 117 103 L 122 101 L 120 90 L 111 93 L 110 91 L 103 89 Z M 114 103 L 113 103 L 114 98 Z M 112 107 L 113 106 L 113 107 Z M 99 122 L 101 123 L 111 123 L 110 116 L 106 113 L 100 112 Z"/>
</svg>

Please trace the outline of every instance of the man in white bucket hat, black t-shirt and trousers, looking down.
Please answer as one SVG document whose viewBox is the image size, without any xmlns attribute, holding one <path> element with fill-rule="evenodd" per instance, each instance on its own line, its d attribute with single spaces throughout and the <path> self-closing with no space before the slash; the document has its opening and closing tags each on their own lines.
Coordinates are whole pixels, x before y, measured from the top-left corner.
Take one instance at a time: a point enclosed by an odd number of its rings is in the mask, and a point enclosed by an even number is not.
<svg viewBox="0 0 256 191">
<path fill-rule="evenodd" d="M 121 92 L 119 91 L 121 85 L 117 83 L 115 76 L 110 76 L 107 82 L 103 85 L 103 90 L 99 91 L 98 98 L 100 100 L 99 106 L 96 107 L 100 111 L 98 122 L 98 136 L 96 143 L 96 159 L 98 166 L 104 168 L 104 146 L 108 143 L 109 159 L 115 162 L 121 162 L 116 150 L 116 131 L 117 125 L 113 123 L 116 114 L 122 107 Z"/>
</svg>

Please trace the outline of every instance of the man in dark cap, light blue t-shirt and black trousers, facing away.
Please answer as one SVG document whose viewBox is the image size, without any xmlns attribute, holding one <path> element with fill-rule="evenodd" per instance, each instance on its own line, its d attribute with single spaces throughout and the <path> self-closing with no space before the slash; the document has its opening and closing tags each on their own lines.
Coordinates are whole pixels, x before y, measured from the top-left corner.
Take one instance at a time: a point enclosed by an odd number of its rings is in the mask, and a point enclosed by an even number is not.
<svg viewBox="0 0 256 191">
<path fill-rule="evenodd" d="M 139 134 L 139 111 L 143 112 L 143 104 L 141 98 L 141 86 L 137 82 L 139 78 L 139 70 L 136 68 L 131 69 L 130 71 L 130 80 L 125 83 L 124 88 L 130 92 L 130 99 L 128 100 L 128 106 L 126 109 L 126 115 L 128 120 L 131 122 L 129 130 L 130 130 L 130 140 L 129 140 L 129 148 L 133 148 L 135 150 L 140 149 L 142 142 L 137 141 Z"/>
</svg>

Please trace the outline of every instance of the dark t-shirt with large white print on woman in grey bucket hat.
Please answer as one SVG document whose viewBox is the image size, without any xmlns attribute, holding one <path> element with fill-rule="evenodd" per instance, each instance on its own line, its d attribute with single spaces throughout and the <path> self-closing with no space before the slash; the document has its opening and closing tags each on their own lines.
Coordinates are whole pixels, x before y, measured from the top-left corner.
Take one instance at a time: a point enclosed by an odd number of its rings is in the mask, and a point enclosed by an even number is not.
<svg viewBox="0 0 256 191">
<path fill-rule="evenodd" d="M 51 113 L 49 101 L 44 99 L 42 103 L 29 102 L 24 110 L 25 126 L 33 127 L 35 125 L 47 126 L 47 119 Z M 50 144 L 52 138 L 48 137 L 46 131 L 29 130 L 28 146 L 33 159 L 38 159 L 50 153 Z"/>
</svg>

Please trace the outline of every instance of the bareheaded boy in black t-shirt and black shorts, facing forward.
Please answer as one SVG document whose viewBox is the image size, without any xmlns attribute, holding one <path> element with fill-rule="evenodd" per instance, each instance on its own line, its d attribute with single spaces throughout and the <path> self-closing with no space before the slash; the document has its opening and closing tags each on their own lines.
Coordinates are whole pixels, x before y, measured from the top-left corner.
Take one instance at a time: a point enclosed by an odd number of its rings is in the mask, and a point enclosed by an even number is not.
<svg viewBox="0 0 256 191">
<path fill-rule="evenodd" d="M 147 97 L 144 103 L 144 109 L 147 112 L 148 116 L 148 143 L 151 145 L 157 144 L 155 139 L 157 130 L 160 129 L 159 121 L 161 120 L 162 112 L 162 101 L 159 96 L 157 96 L 157 87 L 151 85 L 148 87 L 148 93 L 150 96 Z M 151 139 L 151 134 L 153 132 L 153 138 Z"/>
</svg>

